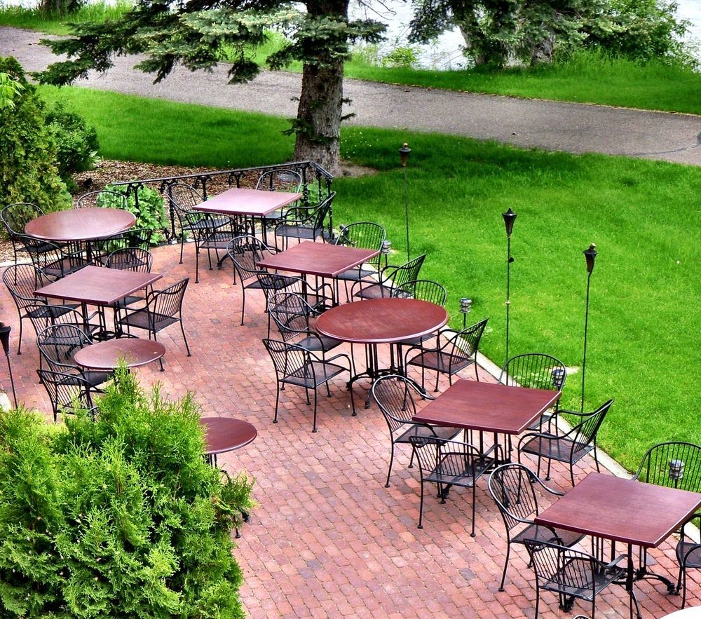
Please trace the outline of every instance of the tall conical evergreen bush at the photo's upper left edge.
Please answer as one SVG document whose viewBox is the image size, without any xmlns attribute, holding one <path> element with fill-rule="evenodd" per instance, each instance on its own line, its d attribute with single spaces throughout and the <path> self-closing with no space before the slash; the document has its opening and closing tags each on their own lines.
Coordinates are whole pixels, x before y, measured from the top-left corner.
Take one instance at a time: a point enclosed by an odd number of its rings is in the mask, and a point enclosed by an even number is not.
<svg viewBox="0 0 701 619">
<path fill-rule="evenodd" d="M 32 202 L 45 211 L 67 208 L 71 196 L 58 173 L 45 106 L 13 57 L 0 57 L 0 74 L 14 83 L 14 105 L 0 107 L 0 205 Z"/>
</svg>

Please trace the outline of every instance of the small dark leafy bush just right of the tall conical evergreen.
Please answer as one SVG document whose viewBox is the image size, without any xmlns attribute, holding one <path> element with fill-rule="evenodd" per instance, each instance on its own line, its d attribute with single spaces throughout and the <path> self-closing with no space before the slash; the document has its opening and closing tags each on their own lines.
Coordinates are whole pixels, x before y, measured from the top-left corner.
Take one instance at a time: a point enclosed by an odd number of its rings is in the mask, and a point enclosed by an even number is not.
<svg viewBox="0 0 701 619">
<path fill-rule="evenodd" d="M 69 186 L 74 185 L 74 172 L 91 170 L 97 158 L 97 131 L 61 103 L 55 104 L 46 116 L 48 129 L 58 150 L 58 172 Z"/>
</svg>

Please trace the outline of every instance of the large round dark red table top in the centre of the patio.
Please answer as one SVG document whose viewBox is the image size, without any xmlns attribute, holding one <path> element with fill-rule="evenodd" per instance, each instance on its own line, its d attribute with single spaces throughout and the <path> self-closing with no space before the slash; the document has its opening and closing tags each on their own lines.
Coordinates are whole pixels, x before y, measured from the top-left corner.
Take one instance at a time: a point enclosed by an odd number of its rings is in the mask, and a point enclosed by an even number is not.
<svg viewBox="0 0 701 619">
<path fill-rule="evenodd" d="M 353 343 L 395 343 L 433 333 L 446 322 L 440 305 L 392 297 L 332 307 L 316 319 L 316 330 Z"/>
</svg>

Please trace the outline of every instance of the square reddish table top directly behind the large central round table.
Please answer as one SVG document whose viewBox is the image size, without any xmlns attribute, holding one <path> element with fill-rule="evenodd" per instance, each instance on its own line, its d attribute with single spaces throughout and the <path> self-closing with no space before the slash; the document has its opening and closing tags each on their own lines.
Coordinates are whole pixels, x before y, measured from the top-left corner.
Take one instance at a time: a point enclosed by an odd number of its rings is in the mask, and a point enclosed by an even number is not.
<svg viewBox="0 0 701 619">
<path fill-rule="evenodd" d="M 289 250 L 268 256 L 258 266 L 271 271 L 290 271 L 325 278 L 333 278 L 348 269 L 374 258 L 379 250 L 362 250 L 360 247 L 329 245 L 305 240 Z"/>
</svg>

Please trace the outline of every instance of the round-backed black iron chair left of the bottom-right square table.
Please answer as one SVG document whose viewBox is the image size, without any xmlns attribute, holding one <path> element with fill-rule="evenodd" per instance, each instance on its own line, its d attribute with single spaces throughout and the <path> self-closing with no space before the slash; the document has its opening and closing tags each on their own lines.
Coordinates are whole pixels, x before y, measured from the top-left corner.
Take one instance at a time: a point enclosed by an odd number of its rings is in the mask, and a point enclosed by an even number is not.
<svg viewBox="0 0 701 619">
<path fill-rule="evenodd" d="M 554 496 L 564 494 L 548 488 L 536 473 L 522 464 L 502 464 L 489 475 L 489 494 L 494 498 L 506 528 L 506 559 L 500 591 L 504 590 L 512 544 L 523 545 L 526 539 L 545 542 L 557 537 L 562 545 L 571 547 L 584 537 L 581 533 L 536 524 L 533 517 L 539 511 L 537 487 Z M 519 530 L 514 533 L 515 529 Z"/>
</svg>

